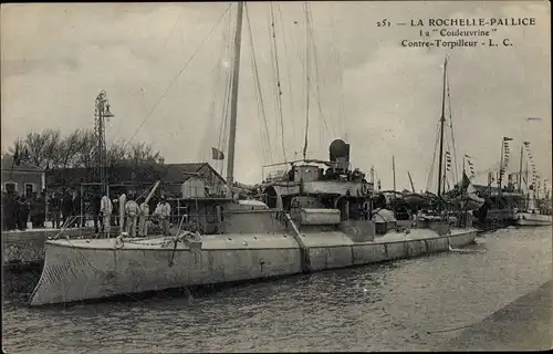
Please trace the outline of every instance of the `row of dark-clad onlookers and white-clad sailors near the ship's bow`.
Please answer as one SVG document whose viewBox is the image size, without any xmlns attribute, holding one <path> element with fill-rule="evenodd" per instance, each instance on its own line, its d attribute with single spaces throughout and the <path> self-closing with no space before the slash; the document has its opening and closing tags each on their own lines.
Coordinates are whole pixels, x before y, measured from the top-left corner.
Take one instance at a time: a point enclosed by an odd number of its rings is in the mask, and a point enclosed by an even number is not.
<svg viewBox="0 0 553 354">
<path fill-rule="evenodd" d="M 2 230 L 24 231 L 45 228 L 46 219 L 52 228 L 84 228 L 91 219 L 95 232 L 109 235 L 112 227 L 131 237 L 146 237 L 149 221 L 157 221 L 161 233 L 169 235 L 171 207 L 165 196 L 136 198 L 135 192 L 122 191 L 113 199 L 100 191 L 81 196 L 79 190 L 33 192 L 29 198 L 17 192 L 2 192 Z M 153 212 L 150 212 L 153 210 Z"/>
</svg>

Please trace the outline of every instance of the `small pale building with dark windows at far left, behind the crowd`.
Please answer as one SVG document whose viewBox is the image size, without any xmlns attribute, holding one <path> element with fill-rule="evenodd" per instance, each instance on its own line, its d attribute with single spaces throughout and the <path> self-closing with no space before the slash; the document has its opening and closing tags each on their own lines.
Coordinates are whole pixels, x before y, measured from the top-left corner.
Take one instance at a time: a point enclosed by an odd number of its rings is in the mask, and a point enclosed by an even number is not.
<svg viewBox="0 0 553 354">
<path fill-rule="evenodd" d="M 28 162 L 19 165 L 13 163 L 12 156 L 2 157 L 2 191 L 31 198 L 33 192 L 41 192 L 45 188 L 45 171 Z"/>
</svg>

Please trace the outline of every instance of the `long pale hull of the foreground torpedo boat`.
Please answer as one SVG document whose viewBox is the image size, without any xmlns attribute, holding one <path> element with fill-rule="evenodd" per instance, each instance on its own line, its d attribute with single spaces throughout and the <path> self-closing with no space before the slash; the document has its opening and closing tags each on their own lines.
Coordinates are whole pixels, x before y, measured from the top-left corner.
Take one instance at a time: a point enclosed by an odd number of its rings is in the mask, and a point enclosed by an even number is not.
<svg viewBox="0 0 553 354">
<path fill-rule="evenodd" d="M 342 232 L 306 233 L 302 240 L 311 271 L 320 271 L 448 251 L 473 242 L 476 236 L 472 228 L 453 229 L 450 236 L 414 229 L 374 242 L 354 242 Z M 201 249 L 182 242 L 176 249 L 174 243 L 155 244 L 161 241 L 125 242 L 121 249 L 114 248 L 114 239 L 48 241 L 31 305 L 302 272 L 301 249 L 292 236 L 282 233 L 202 236 Z"/>
</svg>

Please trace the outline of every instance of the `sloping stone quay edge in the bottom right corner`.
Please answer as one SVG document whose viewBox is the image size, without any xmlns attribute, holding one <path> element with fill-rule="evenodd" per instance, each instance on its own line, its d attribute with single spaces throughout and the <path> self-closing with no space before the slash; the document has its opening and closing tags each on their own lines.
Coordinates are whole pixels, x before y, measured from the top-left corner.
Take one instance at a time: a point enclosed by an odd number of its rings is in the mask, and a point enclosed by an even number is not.
<svg viewBox="0 0 553 354">
<path fill-rule="evenodd" d="M 553 281 L 511 302 L 434 351 L 543 351 L 553 348 Z"/>
</svg>

